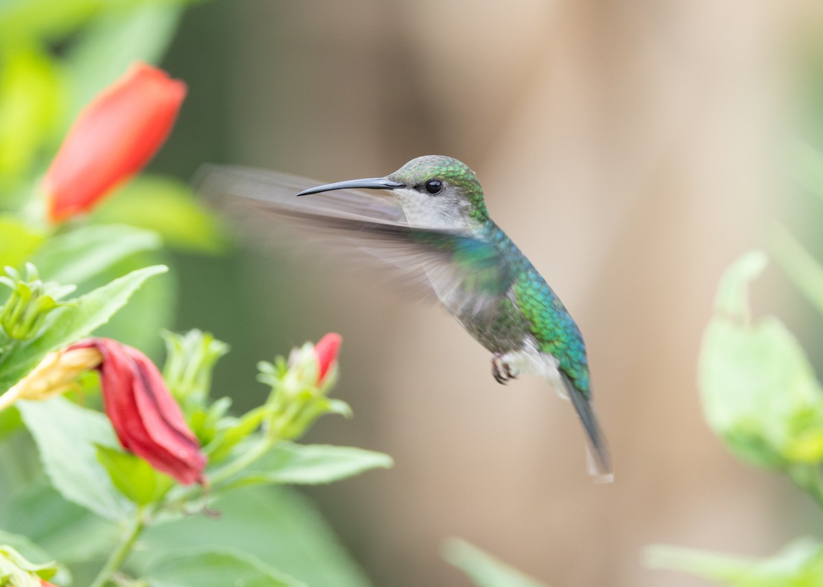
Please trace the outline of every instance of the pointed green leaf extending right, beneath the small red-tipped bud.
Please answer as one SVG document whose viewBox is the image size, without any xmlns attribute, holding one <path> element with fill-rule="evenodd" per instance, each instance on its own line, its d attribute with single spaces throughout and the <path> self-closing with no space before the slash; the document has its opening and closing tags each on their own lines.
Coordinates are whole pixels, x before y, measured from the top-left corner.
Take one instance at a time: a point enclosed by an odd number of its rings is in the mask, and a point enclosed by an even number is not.
<svg viewBox="0 0 823 587">
<path fill-rule="evenodd" d="M 382 452 L 282 441 L 229 483 L 232 486 L 253 483 L 317 485 L 353 477 L 369 469 L 388 469 L 392 465 L 392 457 Z"/>
</svg>

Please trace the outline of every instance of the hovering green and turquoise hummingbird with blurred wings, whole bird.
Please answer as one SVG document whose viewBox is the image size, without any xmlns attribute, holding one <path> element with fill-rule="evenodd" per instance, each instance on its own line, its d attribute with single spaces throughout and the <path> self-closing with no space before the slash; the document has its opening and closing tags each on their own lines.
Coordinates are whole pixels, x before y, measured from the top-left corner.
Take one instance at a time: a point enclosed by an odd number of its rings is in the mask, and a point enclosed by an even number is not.
<svg viewBox="0 0 823 587">
<path fill-rule="evenodd" d="M 611 478 L 583 335 L 546 280 L 491 220 L 467 164 L 425 155 L 383 178 L 319 186 L 281 173 L 209 166 L 198 183 L 222 207 L 244 210 L 253 222 L 273 219 L 305 229 L 422 285 L 491 353 L 496 381 L 542 377 L 571 400 L 588 437 L 593 472 Z"/>
</svg>

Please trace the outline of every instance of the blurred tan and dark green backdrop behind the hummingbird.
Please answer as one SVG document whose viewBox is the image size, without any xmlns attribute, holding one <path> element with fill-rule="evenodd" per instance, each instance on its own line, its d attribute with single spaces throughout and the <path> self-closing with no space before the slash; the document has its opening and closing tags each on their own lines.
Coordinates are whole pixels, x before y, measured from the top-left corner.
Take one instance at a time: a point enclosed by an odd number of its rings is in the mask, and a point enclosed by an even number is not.
<svg viewBox="0 0 823 587">
<path fill-rule="evenodd" d="M 720 273 L 787 205 L 777 163 L 804 130 L 821 22 L 811 0 L 226 0 L 189 13 L 167 63 L 198 62 L 180 123 L 222 138 L 193 139 L 179 166 L 337 181 L 453 155 L 587 340 L 608 485 L 586 474 L 570 404 L 537 379 L 499 386 L 441 308 L 289 251 L 180 261 L 181 298 L 197 293 L 180 326 L 235 349 L 223 389 L 261 395 L 258 359 L 342 333 L 336 395 L 355 418 L 326 418 L 311 440 L 396 466 L 310 494 L 375 585 L 468 585 L 439 558 L 449 536 L 555 587 L 704 585 L 644 568 L 642 549 L 765 556 L 819 528 L 811 501 L 724 451 L 695 379 Z M 759 311 L 790 313 L 765 298 Z"/>
</svg>

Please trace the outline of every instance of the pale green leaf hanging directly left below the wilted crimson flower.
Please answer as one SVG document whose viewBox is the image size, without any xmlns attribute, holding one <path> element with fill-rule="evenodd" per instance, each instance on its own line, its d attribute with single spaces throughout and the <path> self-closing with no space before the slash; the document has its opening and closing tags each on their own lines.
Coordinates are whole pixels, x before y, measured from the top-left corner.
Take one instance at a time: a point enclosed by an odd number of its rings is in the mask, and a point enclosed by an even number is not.
<svg viewBox="0 0 823 587">
<path fill-rule="evenodd" d="M 108 520 L 122 520 L 134 511 L 97 460 L 95 445 L 118 443 L 108 418 L 62 397 L 21 401 L 17 407 L 35 438 L 46 474 L 63 497 Z"/>
</svg>

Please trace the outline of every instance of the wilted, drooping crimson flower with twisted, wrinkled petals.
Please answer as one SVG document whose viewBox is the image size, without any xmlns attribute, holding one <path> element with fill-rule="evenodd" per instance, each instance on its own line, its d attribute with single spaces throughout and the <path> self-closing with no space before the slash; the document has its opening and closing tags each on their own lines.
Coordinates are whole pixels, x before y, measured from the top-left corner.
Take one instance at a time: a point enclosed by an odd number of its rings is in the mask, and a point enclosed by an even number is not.
<svg viewBox="0 0 823 587">
<path fill-rule="evenodd" d="M 71 349 L 94 348 L 109 416 L 123 448 L 184 485 L 203 481 L 206 456 L 189 430 L 154 363 L 137 349 L 111 339 L 88 339 Z"/>
</svg>

